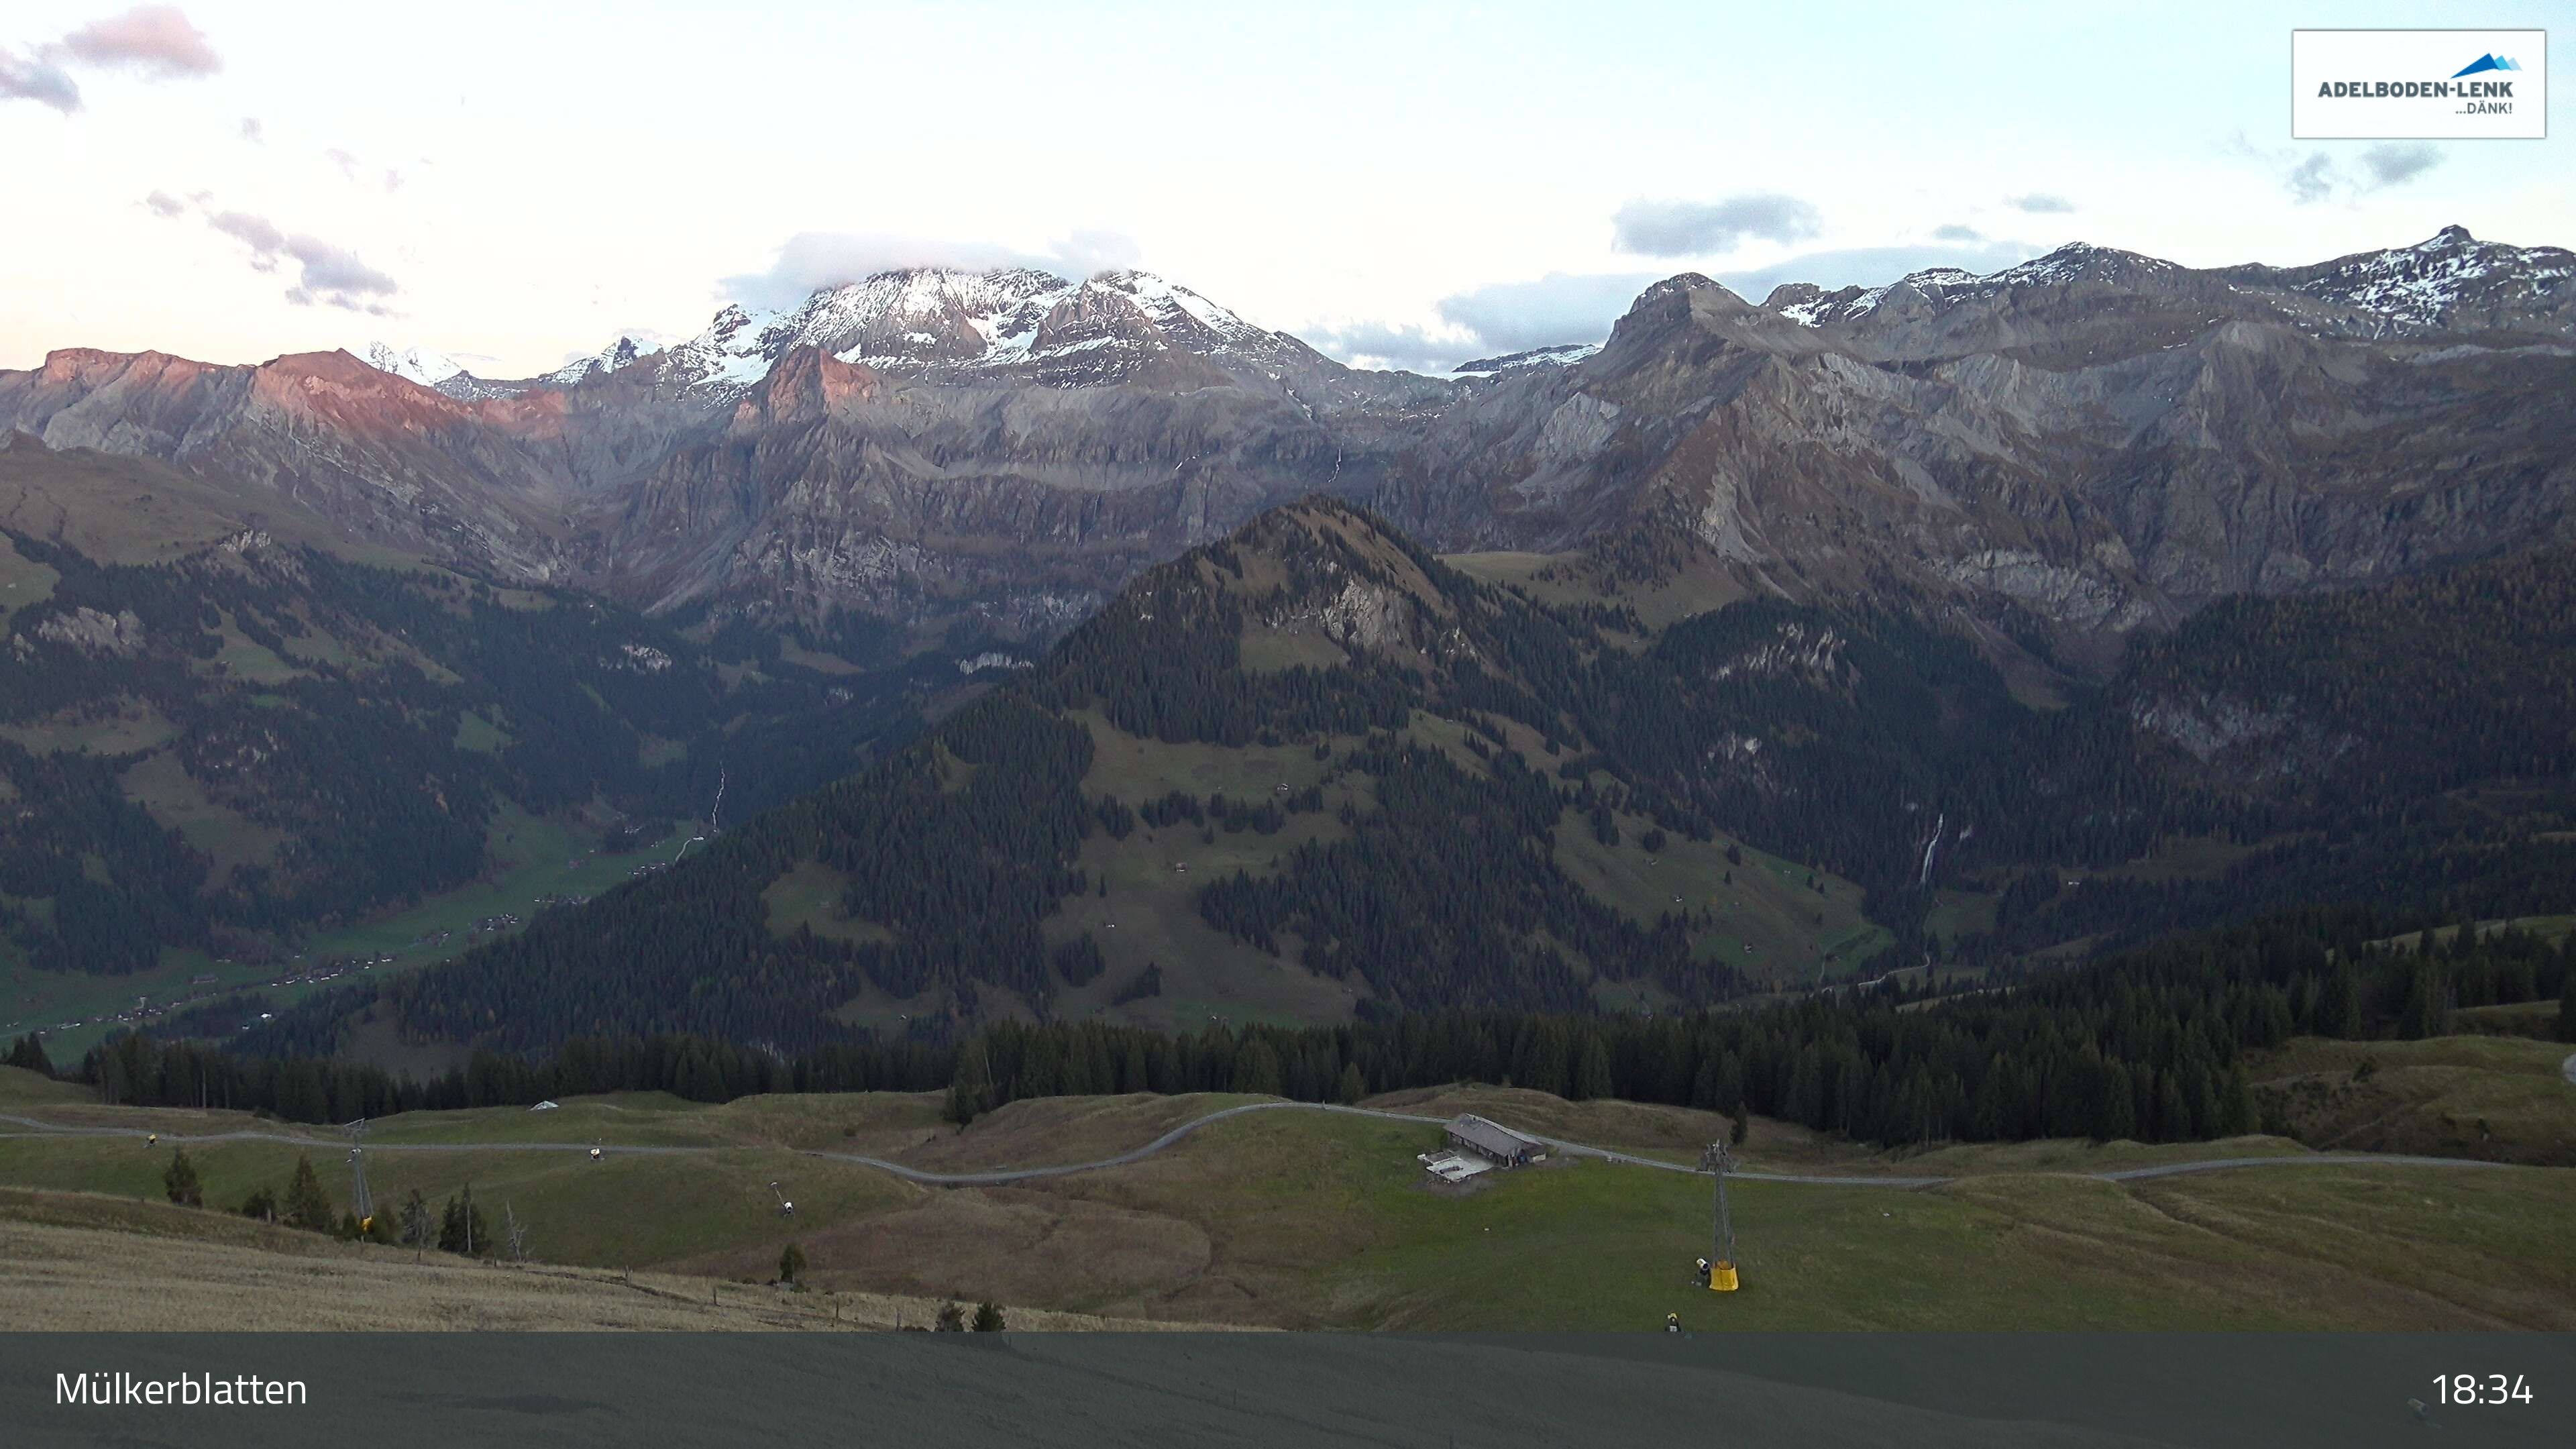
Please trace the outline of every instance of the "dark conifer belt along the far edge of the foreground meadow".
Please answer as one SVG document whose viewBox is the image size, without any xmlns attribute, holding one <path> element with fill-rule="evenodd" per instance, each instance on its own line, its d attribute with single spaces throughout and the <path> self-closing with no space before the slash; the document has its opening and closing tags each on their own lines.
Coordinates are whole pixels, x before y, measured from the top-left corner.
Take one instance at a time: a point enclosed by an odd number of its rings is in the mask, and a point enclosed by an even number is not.
<svg viewBox="0 0 2576 1449">
<path fill-rule="evenodd" d="M 2463 1006 L 2558 1000 L 2576 1039 L 2576 936 L 2421 931 L 2311 910 L 2097 962 L 1968 985 L 1837 990 L 1692 1013 L 1425 1011 L 1350 1026 L 1005 1021 L 956 1042 L 848 1042 L 801 1055 L 701 1036 L 572 1039 L 544 1057 L 479 1052 L 433 1080 L 325 1057 L 240 1057 L 124 1036 L 77 1078 L 106 1101 L 258 1109 L 348 1122 L 420 1109 L 523 1106 L 670 1091 L 729 1101 L 781 1091 L 945 1091 L 956 1122 L 1010 1101 L 1236 1091 L 1293 1101 L 1504 1083 L 1569 1098 L 1754 1111 L 1857 1142 L 2092 1137 L 2184 1142 L 2264 1127 L 2246 1052 L 2293 1036 L 2424 1039 Z M 21 1039 L 10 1065 L 49 1070 Z"/>
</svg>

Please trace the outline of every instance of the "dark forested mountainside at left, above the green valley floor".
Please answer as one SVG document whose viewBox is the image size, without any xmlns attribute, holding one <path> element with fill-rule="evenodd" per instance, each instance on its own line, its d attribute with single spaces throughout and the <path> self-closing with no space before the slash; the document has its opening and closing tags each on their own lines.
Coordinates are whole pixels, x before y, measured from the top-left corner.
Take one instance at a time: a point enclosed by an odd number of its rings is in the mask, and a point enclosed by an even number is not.
<svg viewBox="0 0 2576 1449">
<path fill-rule="evenodd" d="M 0 621 L 0 931 L 41 969 L 283 954 L 477 879 L 502 802 L 659 835 L 719 771 L 755 812 L 917 717 L 896 670 L 853 688 L 775 637 L 258 534 L 165 565 L 8 547 L 54 575 Z"/>
</svg>

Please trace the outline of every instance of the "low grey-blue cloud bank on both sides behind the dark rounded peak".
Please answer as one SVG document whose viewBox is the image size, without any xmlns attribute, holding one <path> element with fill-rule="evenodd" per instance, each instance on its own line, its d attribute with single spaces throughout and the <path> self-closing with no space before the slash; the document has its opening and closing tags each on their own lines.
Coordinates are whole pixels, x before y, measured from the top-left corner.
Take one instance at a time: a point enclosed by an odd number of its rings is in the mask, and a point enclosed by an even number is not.
<svg viewBox="0 0 2576 1449">
<path fill-rule="evenodd" d="M 1955 266 L 1989 273 L 2030 260 L 2043 248 L 2014 240 L 1976 245 L 1842 248 L 1806 253 L 1754 271 L 1723 271 L 1716 281 L 1759 302 L 1785 281 L 1824 289 L 1878 286 L 1901 276 Z M 1461 361 L 1520 353 L 1556 343 L 1597 343 L 1659 273 L 1548 273 L 1538 281 L 1497 281 L 1455 291 L 1432 304 L 1437 325 L 1340 322 L 1303 327 L 1319 351 L 1358 366 L 1450 371 Z"/>
</svg>

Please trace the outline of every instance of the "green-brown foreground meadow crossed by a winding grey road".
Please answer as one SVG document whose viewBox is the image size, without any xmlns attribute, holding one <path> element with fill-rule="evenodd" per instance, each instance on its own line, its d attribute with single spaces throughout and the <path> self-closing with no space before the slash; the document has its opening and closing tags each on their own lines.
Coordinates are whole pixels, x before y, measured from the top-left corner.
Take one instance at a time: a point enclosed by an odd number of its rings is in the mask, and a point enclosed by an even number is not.
<svg viewBox="0 0 2576 1449">
<path fill-rule="evenodd" d="M 2427 1057 L 2486 1060 L 2481 1052 L 2499 1042 L 2427 1047 L 2437 1047 Z M 2519 1067 L 2504 1060 L 2465 1070 L 2519 1078 Z M 2558 1091 L 2576 1101 L 2576 1088 Z M 1958 1181 L 1734 1183 L 1744 1269 L 1736 1294 L 1687 1281 L 1690 1261 L 1708 1248 L 1708 1178 L 1564 1160 L 1466 1189 L 1427 1186 L 1414 1155 L 1437 1145 L 1430 1124 L 1262 1111 L 1216 1122 L 1144 1163 L 1015 1186 L 917 1186 L 817 1155 L 878 1155 L 925 1171 L 1079 1163 L 1239 1101 L 1252 1098 L 1041 1098 L 958 1132 L 938 1119 L 938 1093 L 724 1106 L 626 1093 L 556 1111 L 384 1119 L 368 1134 L 368 1181 L 379 1209 L 412 1189 L 438 1204 L 471 1183 L 495 1230 L 507 1204 L 528 1225 L 531 1256 L 567 1269 L 765 1281 L 793 1240 L 817 1289 L 907 1302 L 989 1297 L 1113 1320 L 1643 1330 L 1680 1312 L 1705 1330 L 2576 1328 L 2576 1171 L 2568 1168 L 2367 1163 L 2117 1183 L 2084 1176 L 2308 1152 L 2267 1137 L 1886 1155 L 1757 1122 L 1744 1147 L 1752 1171 Z M 1667 1160 L 1692 1160 L 1700 1142 L 1723 1132 L 1710 1114 L 1504 1088 L 1391 1093 L 1373 1106 L 1425 1116 L 1471 1109 Z M 314 1160 L 335 1201 L 348 1194 L 345 1137 L 327 1129 L 222 1111 L 106 1109 L 26 1073 L 0 1073 L 0 1111 L 162 1132 L 296 1134 L 309 1142 L 188 1147 L 209 1201 L 222 1207 L 283 1183 L 296 1155 Z M 533 1147 L 546 1142 L 569 1147 Z M 590 1163 L 585 1142 L 603 1142 L 605 1158 Z M 162 1204 L 170 1152 L 170 1140 L 152 1147 L 134 1137 L 0 1137 L 0 1235 L 23 1235 L 10 1220 L 28 1220 L 41 1204 L 57 1204 L 44 1212 L 59 1217 L 75 1212 L 59 1204 L 121 1201 L 116 1212 L 155 1214 L 152 1225 L 100 1220 L 80 1230 L 214 1238 L 232 1243 L 227 1250 L 273 1243 L 270 1230 L 245 1240 L 255 1225 L 237 1217 Z M 773 1181 L 796 1201 L 793 1217 L 778 1214 Z M 343 1250 L 291 1238 L 301 1253 Z M 72 1253 L 64 1243 L 44 1250 Z M 366 1261 L 368 1274 L 415 1271 L 402 1253 L 345 1253 Z M 477 1271 L 438 1253 L 430 1261 Z"/>
</svg>

